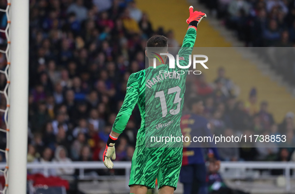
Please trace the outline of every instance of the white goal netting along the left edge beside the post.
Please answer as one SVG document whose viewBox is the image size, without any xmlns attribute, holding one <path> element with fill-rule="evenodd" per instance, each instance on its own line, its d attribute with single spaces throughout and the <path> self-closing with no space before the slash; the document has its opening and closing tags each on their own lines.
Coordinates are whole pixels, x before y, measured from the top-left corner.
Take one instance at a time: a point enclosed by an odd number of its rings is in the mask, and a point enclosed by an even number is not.
<svg viewBox="0 0 295 194">
<path fill-rule="evenodd" d="M 3 107 L 0 108 L 0 112 L 4 113 L 3 115 L 3 120 L 4 123 L 2 126 L 2 128 L 0 128 L 0 132 L 4 132 L 6 133 L 6 148 L 5 149 L 0 149 L 0 152 L 3 152 L 5 154 L 5 168 L 4 169 L 0 169 L 0 174 L 3 174 L 4 176 L 4 185 L 2 185 L 2 188 L 0 188 L 0 193 L 6 193 L 7 192 L 7 186 L 8 186 L 8 137 L 9 137 L 9 129 L 8 129 L 8 109 L 9 109 L 9 99 L 8 99 L 8 94 L 7 94 L 7 89 L 10 83 L 10 79 L 8 76 L 8 70 L 9 70 L 9 66 L 10 66 L 10 57 L 9 57 L 9 47 L 10 47 L 10 37 L 9 37 L 9 26 L 10 26 L 10 15 L 9 15 L 9 10 L 10 10 L 10 0 L 7 0 L 7 6 L 5 9 L 0 9 L 0 12 L 4 12 L 6 15 L 6 27 L 5 29 L 0 29 L 0 33 L 5 33 L 5 38 L 6 38 L 6 48 L 5 49 L 0 49 L 0 52 L 5 54 L 5 58 L 6 58 L 6 65 L 3 66 L 2 69 L 0 69 L 0 74 L 4 74 L 5 79 L 6 79 L 6 84 L 3 90 L 0 90 L 0 94 L 3 96 L 6 100 L 6 108 L 4 109 Z M 5 128 L 3 128 L 3 126 L 5 126 Z"/>
</svg>

